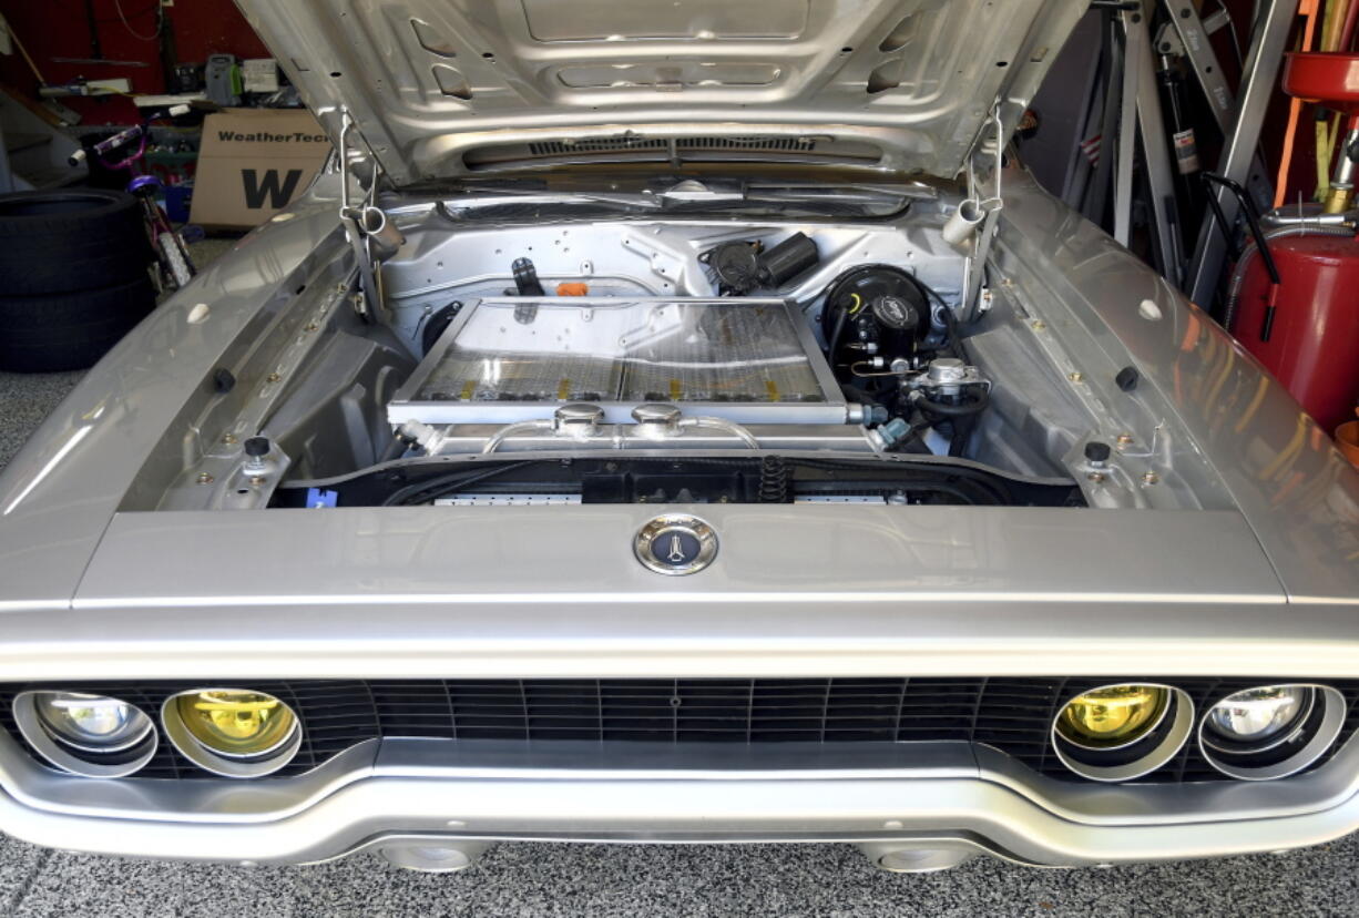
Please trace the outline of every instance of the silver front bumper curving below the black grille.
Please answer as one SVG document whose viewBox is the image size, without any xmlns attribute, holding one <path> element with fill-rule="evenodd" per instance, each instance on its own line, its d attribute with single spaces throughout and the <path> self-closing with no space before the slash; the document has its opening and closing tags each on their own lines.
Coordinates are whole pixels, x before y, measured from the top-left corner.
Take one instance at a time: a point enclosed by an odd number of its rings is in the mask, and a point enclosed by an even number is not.
<svg viewBox="0 0 1359 918">
<path fill-rule="evenodd" d="M 269 782 L 99 782 L 0 737 L 0 831 L 58 849 L 299 864 L 401 842 L 901 842 L 1037 866 L 1318 845 L 1359 830 L 1359 745 L 1273 783 L 1056 782 L 962 743 L 762 749 L 367 743 Z M 682 759 L 678 758 L 682 755 Z M 625 762 L 625 764 L 620 764 Z"/>
</svg>

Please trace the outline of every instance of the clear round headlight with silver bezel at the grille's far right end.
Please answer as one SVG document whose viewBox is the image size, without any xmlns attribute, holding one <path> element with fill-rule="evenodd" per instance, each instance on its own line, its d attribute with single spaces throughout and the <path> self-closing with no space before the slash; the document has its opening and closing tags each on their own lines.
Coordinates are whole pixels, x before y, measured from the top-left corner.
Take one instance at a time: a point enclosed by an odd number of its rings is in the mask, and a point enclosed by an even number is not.
<svg viewBox="0 0 1359 918">
<path fill-rule="evenodd" d="M 1260 685 L 1227 695 L 1199 726 L 1199 748 L 1218 771 L 1268 781 L 1302 771 L 1330 748 L 1345 702 L 1325 685 Z"/>
</svg>

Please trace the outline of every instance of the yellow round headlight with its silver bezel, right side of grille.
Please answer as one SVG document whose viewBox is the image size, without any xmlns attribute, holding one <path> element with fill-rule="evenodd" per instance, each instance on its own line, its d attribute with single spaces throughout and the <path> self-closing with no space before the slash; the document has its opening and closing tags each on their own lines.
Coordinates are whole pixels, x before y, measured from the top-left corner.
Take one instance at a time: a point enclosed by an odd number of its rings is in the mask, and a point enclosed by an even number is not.
<svg viewBox="0 0 1359 918">
<path fill-rule="evenodd" d="M 1091 781 L 1132 781 L 1170 762 L 1193 732 L 1193 702 L 1158 684 L 1098 685 L 1075 695 L 1052 721 L 1052 747 Z"/>
</svg>

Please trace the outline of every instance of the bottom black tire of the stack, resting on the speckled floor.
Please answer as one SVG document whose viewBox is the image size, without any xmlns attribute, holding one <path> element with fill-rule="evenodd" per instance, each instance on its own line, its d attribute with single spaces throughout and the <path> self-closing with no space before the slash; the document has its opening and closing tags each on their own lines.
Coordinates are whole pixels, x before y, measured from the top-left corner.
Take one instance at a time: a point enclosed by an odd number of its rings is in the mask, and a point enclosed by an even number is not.
<svg viewBox="0 0 1359 918">
<path fill-rule="evenodd" d="M 145 271 L 136 280 L 77 294 L 0 296 L 0 370 L 83 370 L 156 306 Z"/>
</svg>

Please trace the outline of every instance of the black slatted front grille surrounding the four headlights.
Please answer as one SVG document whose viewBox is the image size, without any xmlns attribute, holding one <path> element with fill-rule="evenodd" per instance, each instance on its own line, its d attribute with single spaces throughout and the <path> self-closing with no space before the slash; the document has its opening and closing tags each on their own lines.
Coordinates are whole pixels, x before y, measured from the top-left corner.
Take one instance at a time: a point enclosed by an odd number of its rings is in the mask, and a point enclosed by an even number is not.
<svg viewBox="0 0 1359 918">
<path fill-rule="evenodd" d="M 207 680 L 98 683 L 63 690 L 113 695 L 158 715 L 170 695 L 201 685 L 247 685 L 298 711 L 303 744 L 273 777 L 295 775 L 364 740 L 440 737 L 554 743 L 911 743 L 962 740 L 993 747 L 1025 766 L 1082 781 L 1057 762 L 1048 743 L 1057 707 L 1072 695 L 1110 683 L 1177 685 L 1201 713 L 1210 702 L 1269 681 L 1307 679 L 1029 677 L 1029 679 L 393 679 Z M 1348 704 L 1332 753 L 1359 728 L 1359 680 L 1329 681 Z M 11 702 L 0 691 L 0 725 L 19 740 Z M 57 688 L 57 685 L 46 685 Z M 19 740 L 22 744 L 22 740 Z M 1329 758 L 1328 753 L 1326 758 Z M 1324 762 L 1325 759 L 1322 759 Z M 1320 763 L 1318 763 L 1320 764 Z M 207 778 L 162 741 L 141 778 Z M 1193 741 L 1142 782 L 1224 781 Z"/>
</svg>

